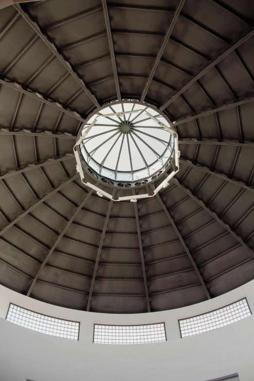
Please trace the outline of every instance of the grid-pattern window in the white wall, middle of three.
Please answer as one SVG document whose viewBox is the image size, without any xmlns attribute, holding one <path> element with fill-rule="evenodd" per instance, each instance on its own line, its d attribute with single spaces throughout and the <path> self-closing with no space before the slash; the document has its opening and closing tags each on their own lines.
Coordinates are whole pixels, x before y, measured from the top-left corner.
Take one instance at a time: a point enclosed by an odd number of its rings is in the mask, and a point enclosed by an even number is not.
<svg viewBox="0 0 254 381">
<path fill-rule="evenodd" d="M 164 323 L 145 326 L 104 326 L 94 324 L 93 343 L 147 344 L 166 341 Z"/>
</svg>

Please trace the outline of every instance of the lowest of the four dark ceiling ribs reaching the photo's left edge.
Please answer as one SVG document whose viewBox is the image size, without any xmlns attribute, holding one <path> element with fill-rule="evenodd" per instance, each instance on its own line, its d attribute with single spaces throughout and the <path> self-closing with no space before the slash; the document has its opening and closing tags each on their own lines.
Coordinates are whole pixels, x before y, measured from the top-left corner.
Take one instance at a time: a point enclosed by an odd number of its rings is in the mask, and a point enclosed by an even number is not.
<svg viewBox="0 0 254 381">
<path fill-rule="evenodd" d="M 75 180 L 77 177 L 79 177 L 79 174 L 76 171 L 73 172 L 73 174 L 70 177 L 67 177 L 66 179 L 61 181 L 54 188 L 52 188 L 48 192 L 46 192 L 45 195 L 43 195 L 41 198 L 39 198 L 38 200 L 36 200 L 32 204 L 30 204 L 27 209 L 23 210 L 11 222 L 9 222 L 6 226 L 1 228 L 1 230 L 0 230 L 0 236 L 3 233 L 5 233 L 9 228 L 11 228 L 13 225 L 15 225 L 21 218 L 26 216 L 28 213 L 32 212 L 32 210 L 34 210 L 38 205 L 40 205 L 42 202 L 46 201 L 50 196 L 54 195 L 54 193 L 58 192 L 65 185 L 69 184 L 70 182 Z"/>
</svg>

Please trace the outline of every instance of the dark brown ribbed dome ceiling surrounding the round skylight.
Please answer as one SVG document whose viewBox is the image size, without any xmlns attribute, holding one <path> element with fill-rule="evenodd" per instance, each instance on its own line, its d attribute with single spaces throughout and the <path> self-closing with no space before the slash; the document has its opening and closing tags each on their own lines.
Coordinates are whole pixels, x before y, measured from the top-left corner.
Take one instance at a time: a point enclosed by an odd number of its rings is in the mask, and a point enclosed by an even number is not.
<svg viewBox="0 0 254 381">
<path fill-rule="evenodd" d="M 139 313 L 254 279 L 253 25 L 250 0 L 0 9 L 2 285 L 67 308 Z M 156 106 L 179 136 L 180 171 L 136 203 L 99 197 L 76 172 L 82 123 L 117 99 Z M 151 186 L 100 187 L 124 197 Z"/>
</svg>

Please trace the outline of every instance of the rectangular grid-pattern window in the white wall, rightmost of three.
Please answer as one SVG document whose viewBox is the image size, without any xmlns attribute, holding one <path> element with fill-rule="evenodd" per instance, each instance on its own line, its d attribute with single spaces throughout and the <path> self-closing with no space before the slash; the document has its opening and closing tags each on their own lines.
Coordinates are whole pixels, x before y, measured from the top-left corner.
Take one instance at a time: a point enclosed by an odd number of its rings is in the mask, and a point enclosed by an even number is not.
<svg viewBox="0 0 254 381">
<path fill-rule="evenodd" d="M 204 315 L 179 320 L 181 337 L 199 335 L 213 329 L 227 326 L 251 315 L 246 298 L 229 306 L 207 312 Z"/>
</svg>

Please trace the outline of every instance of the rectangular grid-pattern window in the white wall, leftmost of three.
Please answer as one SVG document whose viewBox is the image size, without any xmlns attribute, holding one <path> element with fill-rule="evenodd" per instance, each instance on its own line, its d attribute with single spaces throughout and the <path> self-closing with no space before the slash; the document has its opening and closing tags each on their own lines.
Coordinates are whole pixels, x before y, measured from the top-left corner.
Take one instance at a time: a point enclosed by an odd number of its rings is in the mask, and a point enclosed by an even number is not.
<svg viewBox="0 0 254 381">
<path fill-rule="evenodd" d="M 69 320 L 57 319 L 47 315 L 41 315 L 14 304 L 10 304 L 6 320 L 18 326 L 46 333 L 47 335 L 62 337 L 64 339 L 78 340 L 79 323 Z"/>
</svg>

